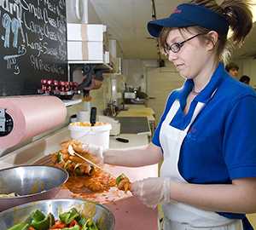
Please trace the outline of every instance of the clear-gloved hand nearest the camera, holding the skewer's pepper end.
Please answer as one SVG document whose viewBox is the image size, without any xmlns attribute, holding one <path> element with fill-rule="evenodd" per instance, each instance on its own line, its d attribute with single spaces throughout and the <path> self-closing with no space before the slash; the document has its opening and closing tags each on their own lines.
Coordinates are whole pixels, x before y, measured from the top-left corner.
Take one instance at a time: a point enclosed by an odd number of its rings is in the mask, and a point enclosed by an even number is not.
<svg viewBox="0 0 256 230">
<path fill-rule="evenodd" d="M 171 180 L 166 177 L 149 177 L 131 184 L 131 193 L 150 208 L 170 203 L 171 189 Z"/>
</svg>

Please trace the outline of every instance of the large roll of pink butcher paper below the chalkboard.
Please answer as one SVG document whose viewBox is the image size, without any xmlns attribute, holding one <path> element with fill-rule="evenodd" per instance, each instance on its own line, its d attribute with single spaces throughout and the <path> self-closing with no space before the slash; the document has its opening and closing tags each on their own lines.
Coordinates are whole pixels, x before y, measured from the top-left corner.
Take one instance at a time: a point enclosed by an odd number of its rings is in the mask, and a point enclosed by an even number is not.
<svg viewBox="0 0 256 230">
<path fill-rule="evenodd" d="M 64 103 L 55 96 L 19 96 L 0 98 L 0 108 L 13 118 L 9 135 L 0 136 L 0 148 L 14 147 L 26 139 L 62 124 L 67 116 Z"/>
</svg>

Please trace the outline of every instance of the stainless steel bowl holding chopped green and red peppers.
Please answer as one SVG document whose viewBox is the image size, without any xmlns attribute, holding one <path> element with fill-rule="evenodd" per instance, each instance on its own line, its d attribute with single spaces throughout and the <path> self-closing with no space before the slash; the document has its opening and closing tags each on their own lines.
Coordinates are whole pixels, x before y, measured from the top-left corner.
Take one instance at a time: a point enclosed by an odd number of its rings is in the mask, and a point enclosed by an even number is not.
<svg viewBox="0 0 256 230">
<path fill-rule="evenodd" d="M 102 204 L 95 204 L 82 199 L 63 198 L 41 200 L 5 210 L 0 213 L 0 229 L 6 230 L 20 221 L 26 220 L 34 210 L 41 210 L 44 214 L 51 212 L 55 219 L 58 219 L 60 212 L 65 212 L 71 208 L 76 208 L 87 217 L 92 217 L 100 230 L 113 230 L 114 228 L 113 213 Z"/>
</svg>

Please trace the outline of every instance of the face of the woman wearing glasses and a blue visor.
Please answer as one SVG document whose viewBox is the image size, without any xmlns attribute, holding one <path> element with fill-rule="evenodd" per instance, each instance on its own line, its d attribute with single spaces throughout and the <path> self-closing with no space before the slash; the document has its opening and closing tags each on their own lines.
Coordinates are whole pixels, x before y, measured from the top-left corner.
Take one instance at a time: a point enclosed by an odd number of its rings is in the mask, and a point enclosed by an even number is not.
<svg viewBox="0 0 256 230">
<path fill-rule="evenodd" d="M 173 43 L 181 43 L 196 34 L 198 33 L 186 30 L 180 32 L 179 29 L 173 29 L 169 32 L 166 43 L 170 47 Z M 207 50 L 207 44 L 202 43 L 198 37 L 194 37 L 183 43 L 183 46 L 177 53 L 170 50 L 167 57 L 176 66 L 177 72 L 183 78 L 195 78 L 207 66 L 207 61 L 210 57 L 210 53 Z"/>
</svg>

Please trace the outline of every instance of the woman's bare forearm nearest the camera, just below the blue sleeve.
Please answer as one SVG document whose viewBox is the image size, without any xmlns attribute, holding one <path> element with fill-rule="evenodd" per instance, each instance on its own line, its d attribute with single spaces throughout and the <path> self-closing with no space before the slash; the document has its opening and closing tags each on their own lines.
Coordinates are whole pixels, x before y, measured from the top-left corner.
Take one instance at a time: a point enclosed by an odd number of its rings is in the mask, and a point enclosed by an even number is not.
<svg viewBox="0 0 256 230">
<path fill-rule="evenodd" d="M 245 178 L 231 185 L 198 185 L 172 182 L 171 198 L 203 210 L 234 213 L 256 212 L 256 179 Z"/>
</svg>

